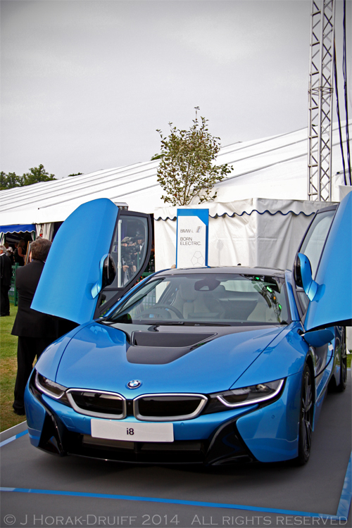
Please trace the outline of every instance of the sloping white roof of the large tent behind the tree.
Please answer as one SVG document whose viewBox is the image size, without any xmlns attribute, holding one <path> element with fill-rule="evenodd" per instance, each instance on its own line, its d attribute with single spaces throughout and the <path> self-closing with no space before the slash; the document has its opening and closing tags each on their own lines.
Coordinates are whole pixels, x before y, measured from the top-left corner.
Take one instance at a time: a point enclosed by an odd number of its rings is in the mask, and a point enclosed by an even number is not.
<svg viewBox="0 0 352 528">
<path fill-rule="evenodd" d="M 222 147 L 217 163 L 228 163 L 233 170 L 223 182 L 216 184 L 215 201 L 306 200 L 307 137 L 308 131 L 304 128 Z M 332 174 L 337 175 L 333 182 L 334 192 L 337 185 L 343 184 L 337 123 L 334 123 L 332 144 Z M 1 191 L 0 224 L 63 221 L 81 203 L 96 198 L 109 198 L 115 203 L 127 203 L 130 210 L 153 213 L 156 208 L 165 206 L 156 177 L 158 163 L 135 163 Z M 332 199 L 339 199 L 336 191 Z"/>
</svg>

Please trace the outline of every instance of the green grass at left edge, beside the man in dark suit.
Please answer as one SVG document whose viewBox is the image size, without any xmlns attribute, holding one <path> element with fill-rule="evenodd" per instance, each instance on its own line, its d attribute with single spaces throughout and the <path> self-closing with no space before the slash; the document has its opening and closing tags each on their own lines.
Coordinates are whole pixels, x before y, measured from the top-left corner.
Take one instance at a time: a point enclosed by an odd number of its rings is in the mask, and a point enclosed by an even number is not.
<svg viewBox="0 0 352 528">
<path fill-rule="evenodd" d="M 9 429 L 25 420 L 25 416 L 13 413 L 13 389 L 17 372 L 17 337 L 11 330 L 17 306 L 10 305 L 10 317 L 0 318 L 0 431 Z M 351 367 L 352 354 L 347 356 L 347 366 Z"/>
</svg>

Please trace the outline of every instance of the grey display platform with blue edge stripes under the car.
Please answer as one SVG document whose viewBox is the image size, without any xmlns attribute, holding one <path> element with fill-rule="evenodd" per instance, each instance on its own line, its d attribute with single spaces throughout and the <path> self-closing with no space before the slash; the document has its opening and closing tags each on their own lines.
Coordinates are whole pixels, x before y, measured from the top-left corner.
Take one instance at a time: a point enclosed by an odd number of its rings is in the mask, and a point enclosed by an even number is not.
<svg viewBox="0 0 352 528">
<path fill-rule="evenodd" d="M 304 467 L 163 467 L 58 458 L 27 425 L 0 437 L 1 528 L 352 526 L 351 370 L 328 394 Z"/>
</svg>

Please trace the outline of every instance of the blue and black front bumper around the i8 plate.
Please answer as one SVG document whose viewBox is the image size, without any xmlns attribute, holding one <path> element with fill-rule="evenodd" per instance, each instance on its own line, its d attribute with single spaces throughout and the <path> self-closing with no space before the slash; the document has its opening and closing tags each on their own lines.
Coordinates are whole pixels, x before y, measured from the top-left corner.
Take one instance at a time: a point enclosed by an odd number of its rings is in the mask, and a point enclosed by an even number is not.
<svg viewBox="0 0 352 528">
<path fill-rule="evenodd" d="M 275 462 L 297 455 L 301 375 L 287 379 L 282 394 L 265 406 L 251 405 L 172 422 L 175 441 L 134 442 L 97 439 L 91 420 L 27 385 L 25 407 L 33 446 L 57 455 L 80 455 L 125 463 Z M 298 384 L 298 386 L 297 386 Z M 299 399 L 299 398 L 298 398 Z M 137 422 L 127 416 L 121 422 Z"/>
</svg>

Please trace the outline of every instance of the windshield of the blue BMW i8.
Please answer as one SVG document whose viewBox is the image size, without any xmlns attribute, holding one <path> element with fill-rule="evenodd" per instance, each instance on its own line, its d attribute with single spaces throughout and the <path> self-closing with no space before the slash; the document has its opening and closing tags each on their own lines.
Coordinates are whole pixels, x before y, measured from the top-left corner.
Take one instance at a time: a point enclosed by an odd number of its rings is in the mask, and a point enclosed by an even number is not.
<svg viewBox="0 0 352 528">
<path fill-rule="evenodd" d="M 196 273 L 156 277 L 108 318 L 134 324 L 287 324 L 284 279 Z"/>
</svg>

